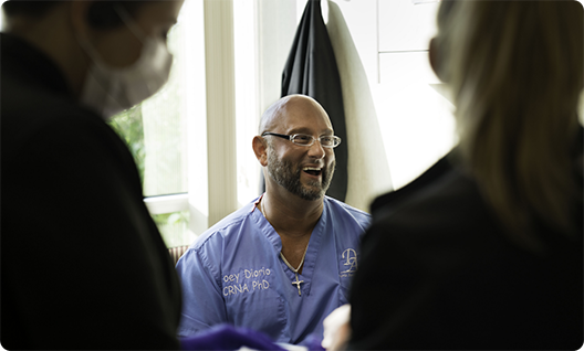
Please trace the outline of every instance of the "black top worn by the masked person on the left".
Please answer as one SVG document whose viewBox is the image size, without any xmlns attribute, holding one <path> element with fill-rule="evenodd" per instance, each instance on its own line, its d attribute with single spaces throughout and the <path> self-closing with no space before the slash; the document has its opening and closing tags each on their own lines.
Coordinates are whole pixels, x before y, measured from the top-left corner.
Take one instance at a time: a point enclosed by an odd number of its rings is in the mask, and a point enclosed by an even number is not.
<svg viewBox="0 0 584 351">
<path fill-rule="evenodd" d="M 0 33 L 0 349 L 178 350 L 180 289 L 125 143 Z"/>
</svg>

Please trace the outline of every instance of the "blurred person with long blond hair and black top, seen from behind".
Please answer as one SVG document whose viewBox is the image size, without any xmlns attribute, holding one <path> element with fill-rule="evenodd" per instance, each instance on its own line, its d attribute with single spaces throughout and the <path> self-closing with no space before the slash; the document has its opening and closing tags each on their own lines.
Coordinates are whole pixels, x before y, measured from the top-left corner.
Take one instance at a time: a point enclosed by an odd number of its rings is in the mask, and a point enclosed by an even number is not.
<svg viewBox="0 0 584 351">
<path fill-rule="evenodd" d="M 459 143 L 374 202 L 348 350 L 581 350 L 582 4 L 444 0 L 430 61 Z"/>
</svg>

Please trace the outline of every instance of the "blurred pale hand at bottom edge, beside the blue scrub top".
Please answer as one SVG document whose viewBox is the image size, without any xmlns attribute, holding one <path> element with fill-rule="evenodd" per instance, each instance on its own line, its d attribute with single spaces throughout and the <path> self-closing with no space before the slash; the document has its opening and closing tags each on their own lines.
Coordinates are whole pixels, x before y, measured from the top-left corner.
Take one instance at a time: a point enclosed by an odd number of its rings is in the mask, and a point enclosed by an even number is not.
<svg viewBox="0 0 584 351">
<path fill-rule="evenodd" d="M 351 305 L 343 305 L 323 321 L 322 347 L 326 351 L 344 351 L 351 338 Z"/>
</svg>

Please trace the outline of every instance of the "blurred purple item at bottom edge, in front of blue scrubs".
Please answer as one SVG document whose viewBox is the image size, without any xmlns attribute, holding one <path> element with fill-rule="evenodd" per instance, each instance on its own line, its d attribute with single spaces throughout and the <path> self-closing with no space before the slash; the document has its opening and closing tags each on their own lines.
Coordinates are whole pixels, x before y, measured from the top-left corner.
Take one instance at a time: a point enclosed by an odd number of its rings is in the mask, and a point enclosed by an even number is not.
<svg viewBox="0 0 584 351">
<path fill-rule="evenodd" d="M 196 336 L 181 338 L 180 347 L 182 351 L 234 351 L 242 347 L 259 351 L 285 351 L 259 331 L 229 325 L 220 325 Z"/>
</svg>

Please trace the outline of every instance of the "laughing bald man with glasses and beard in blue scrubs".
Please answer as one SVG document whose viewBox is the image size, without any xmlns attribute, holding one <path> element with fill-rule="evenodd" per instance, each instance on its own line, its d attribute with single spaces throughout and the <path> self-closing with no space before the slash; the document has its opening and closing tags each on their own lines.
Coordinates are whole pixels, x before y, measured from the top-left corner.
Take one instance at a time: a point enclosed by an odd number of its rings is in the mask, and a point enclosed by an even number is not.
<svg viewBox="0 0 584 351">
<path fill-rule="evenodd" d="M 180 336 L 231 323 L 298 344 L 347 302 L 369 215 L 325 196 L 341 139 L 303 95 L 270 106 L 253 138 L 265 193 L 213 225 L 178 262 Z"/>
</svg>

